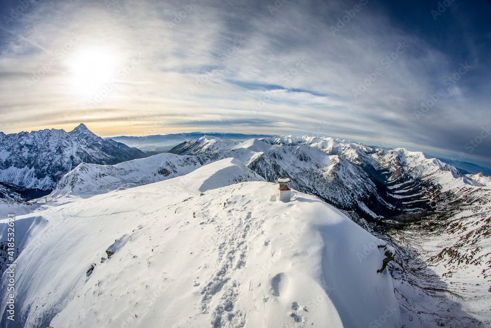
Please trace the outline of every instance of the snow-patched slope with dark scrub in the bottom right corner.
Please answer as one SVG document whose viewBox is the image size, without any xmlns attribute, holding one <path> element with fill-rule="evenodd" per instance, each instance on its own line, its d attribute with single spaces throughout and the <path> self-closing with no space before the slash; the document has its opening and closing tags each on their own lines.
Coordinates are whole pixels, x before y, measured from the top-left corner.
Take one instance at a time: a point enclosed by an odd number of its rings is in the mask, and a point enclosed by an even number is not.
<svg viewBox="0 0 491 328">
<path fill-rule="evenodd" d="M 491 327 L 491 188 L 464 186 L 443 199 L 436 213 L 380 236 L 396 248 L 398 299 L 422 322 Z"/>
</svg>

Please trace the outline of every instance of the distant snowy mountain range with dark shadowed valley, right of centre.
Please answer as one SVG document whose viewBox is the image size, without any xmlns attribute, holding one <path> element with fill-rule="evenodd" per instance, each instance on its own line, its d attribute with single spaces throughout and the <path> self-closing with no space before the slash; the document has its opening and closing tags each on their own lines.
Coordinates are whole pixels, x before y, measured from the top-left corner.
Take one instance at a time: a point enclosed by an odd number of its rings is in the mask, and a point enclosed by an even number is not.
<svg viewBox="0 0 491 328">
<path fill-rule="evenodd" d="M 369 221 L 379 217 L 411 221 L 435 207 L 440 189 L 491 186 L 484 175 L 464 174 L 422 152 L 325 137 L 281 136 L 239 143 L 206 136 L 170 152 L 239 158 L 267 181 L 289 176 L 294 189 Z"/>
</svg>

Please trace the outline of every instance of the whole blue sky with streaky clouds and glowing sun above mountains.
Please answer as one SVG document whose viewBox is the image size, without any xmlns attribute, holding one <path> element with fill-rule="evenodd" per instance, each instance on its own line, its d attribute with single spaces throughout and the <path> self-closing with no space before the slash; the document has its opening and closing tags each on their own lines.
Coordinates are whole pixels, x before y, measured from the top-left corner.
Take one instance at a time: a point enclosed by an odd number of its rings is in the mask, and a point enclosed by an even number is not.
<svg viewBox="0 0 491 328">
<path fill-rule="evenodd" d="M 0 130 L 319 134 L 491 166 L 489 1 L 1 2 Z"/>
</svg>

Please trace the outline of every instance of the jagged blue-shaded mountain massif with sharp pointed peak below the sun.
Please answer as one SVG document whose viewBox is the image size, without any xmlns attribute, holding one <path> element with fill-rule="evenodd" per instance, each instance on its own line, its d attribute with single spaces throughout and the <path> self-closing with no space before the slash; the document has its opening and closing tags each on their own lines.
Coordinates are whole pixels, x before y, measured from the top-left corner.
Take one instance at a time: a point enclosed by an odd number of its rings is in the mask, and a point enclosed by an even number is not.
<svg viewBox="0 0 491 328">
<path fill-rule="evenodd" d="M 143 157 L 142 151 L 104 140 L 83 124 L 70 132 L 0 132 L 0 182 L 23 188 L 50 190 L 82 162 L 107 165 Z"/>
</svg>

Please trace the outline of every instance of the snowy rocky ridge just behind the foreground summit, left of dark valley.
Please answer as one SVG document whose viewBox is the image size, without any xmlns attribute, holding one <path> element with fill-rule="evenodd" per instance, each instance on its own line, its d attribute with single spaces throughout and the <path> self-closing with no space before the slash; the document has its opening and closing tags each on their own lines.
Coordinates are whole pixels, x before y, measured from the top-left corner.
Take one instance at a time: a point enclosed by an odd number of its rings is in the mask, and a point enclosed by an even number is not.
<svg viewBox="0 0 491 328">
<path fill-rule="evenodd" d="M 288 175 L 294 179 L 292 187 L 298 190 L 317 194 L 342 208 L 354 204 L 356 209 L 378 216 L 363 204 L 376 194 L 367 174 L 344 158 L 330 156 L 321 149 L 306 145 L 276 147 L 258 139 L 239 143 L 209 136 L 176 149 L 181 156 L 159 154 L 114 166 L 81 164 L 56 184 L 48 199 L 68 194 L 88 197 L 130 188 L 187 174 L 203 164 L 232 157 L 264 179 L 274 181 L 278 176 Z"/>
</svg>

